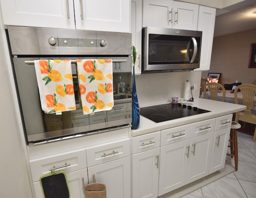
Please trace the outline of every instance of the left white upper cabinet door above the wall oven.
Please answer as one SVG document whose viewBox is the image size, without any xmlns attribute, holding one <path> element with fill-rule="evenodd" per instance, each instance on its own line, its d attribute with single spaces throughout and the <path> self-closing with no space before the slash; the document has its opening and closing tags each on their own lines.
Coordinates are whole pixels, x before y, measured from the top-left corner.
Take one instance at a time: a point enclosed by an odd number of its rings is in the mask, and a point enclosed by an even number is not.
<svg viewBox="0 0 256 198">
<path fill-rule="evenodd" d="M 1 0 L 5 25 L 75 29 L 73 0 Z"/>
</svg>

